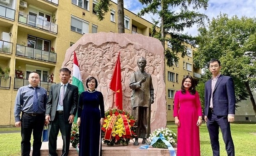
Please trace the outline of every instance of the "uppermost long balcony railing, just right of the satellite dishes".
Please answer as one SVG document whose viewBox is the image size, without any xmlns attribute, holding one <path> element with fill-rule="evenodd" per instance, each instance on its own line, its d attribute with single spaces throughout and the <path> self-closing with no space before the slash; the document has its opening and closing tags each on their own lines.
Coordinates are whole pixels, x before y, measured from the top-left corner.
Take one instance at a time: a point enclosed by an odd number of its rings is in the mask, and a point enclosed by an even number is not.
<svg viewBox="0 0 256 156">
<path fill-rule="evenodd" d="M 35 16 L 19 12 L 19 22 L 40 28 L 52 33 L 58 33 L 58 25 Z"/>
</svg>

